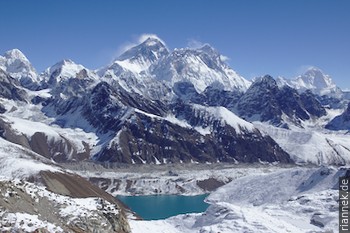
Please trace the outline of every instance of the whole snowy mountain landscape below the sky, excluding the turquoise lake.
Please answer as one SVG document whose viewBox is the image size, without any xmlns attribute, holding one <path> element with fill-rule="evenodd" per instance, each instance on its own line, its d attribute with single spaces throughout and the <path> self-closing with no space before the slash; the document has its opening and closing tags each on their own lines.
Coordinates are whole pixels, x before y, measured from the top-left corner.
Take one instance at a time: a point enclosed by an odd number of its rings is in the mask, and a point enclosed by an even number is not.
<svg viewBox="0 0 350 233">
<path fill-rule="evenodd" d="M 0 227 L 334 231 L 349 132 L 350 94 L 316 67 L 249 81 L 210 45 L 151 36 L 98 70 L 65 59 L 38 73 L 13 49 L 0 56 Z M 206 212 L 151 222 L 114 197 L 219 186 Z"/>
</svg>

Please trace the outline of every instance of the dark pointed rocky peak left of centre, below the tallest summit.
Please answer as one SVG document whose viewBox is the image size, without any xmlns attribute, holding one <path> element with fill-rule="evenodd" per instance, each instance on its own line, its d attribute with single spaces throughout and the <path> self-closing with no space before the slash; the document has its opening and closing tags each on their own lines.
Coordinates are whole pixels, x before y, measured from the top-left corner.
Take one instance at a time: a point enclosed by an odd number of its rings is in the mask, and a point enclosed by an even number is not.
<svg viewBox="0 0 350 233">
<path fill-rule="evenodd" d="M 67 125 L 67 122 L 70 115 L 80 115 L 81 120 L 86 120 L 93 128 L 92 130 L 107 133 L 119 130 L 121 119 L 131 108 L 156 115 L 163 115 L 166 111 L 166 106 L 160 101 L 151 101 L 118 86 L 100 82 L 91 89 L 87 89 L 82 96 L 74 95 L 67 99 L 56 97 L 46 101 L 44 112 L 49 116 L 55 116 L 56 123 L 62 127 L 77 127 L 77 125 Z"/>
</svg>

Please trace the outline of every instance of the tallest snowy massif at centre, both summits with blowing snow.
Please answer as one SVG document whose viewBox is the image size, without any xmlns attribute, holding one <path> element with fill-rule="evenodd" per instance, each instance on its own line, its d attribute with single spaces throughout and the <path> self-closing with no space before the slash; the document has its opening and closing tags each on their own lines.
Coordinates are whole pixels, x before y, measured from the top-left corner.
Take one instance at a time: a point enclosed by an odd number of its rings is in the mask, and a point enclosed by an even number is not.
<svg viewBox="0 0 350 233">
<path fill-rule="evenodd" d="M 177 82 L 192 83 L 198 93 L 207 87 L 247 90 L 250 82 L 231 69 L 222 57 L 208 44 L 169 52 L 161 39 L 151 36 L 98 72 L 101 77 L 117 80 L 124 89 L 140 94 L 150 92 L 146 86 L 159 88 L 167 85 L 171 88 Z"/>
</svg>

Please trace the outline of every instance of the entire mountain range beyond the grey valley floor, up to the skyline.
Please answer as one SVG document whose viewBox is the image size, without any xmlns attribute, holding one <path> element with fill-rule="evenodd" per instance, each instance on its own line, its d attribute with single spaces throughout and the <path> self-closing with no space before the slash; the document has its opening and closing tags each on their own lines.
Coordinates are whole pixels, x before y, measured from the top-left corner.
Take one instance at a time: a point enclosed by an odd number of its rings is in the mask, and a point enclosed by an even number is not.
<svg viewBox="0 0 350 233">
<path fill-rule="evenodd" d="M 350 161 L 348 100 L 330 76 L 311 68 L 248 81 L 221 57 L 209 45 L 171 51 L 150 37 L 99 70 L 62 60 L 39 74 L 8 51 L 1 136 L 56 162 Z M 290 144 L 294 132 L 309 135 L 298 143 L 311 148 L 317 133 L 335 153 L 295 155 L 271 133 L 280 130 Z"/>
</svg>

